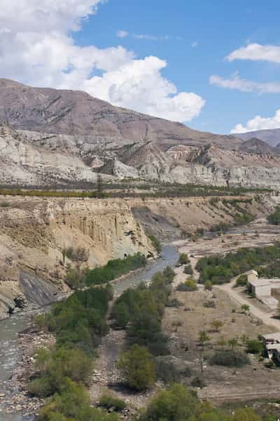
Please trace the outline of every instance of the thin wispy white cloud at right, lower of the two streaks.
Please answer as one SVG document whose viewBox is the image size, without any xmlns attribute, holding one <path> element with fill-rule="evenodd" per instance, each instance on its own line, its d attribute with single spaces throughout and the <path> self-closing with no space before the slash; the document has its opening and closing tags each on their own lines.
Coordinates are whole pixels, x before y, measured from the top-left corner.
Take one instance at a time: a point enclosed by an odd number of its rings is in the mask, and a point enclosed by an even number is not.
<svg viewBox="0 0 280 421">
<path fill-rule="evenodd" d="M 257 93 L 280 93 L 279 82 L 254 82 L 241 79 L 238 72 L 232 74 L 230 79 L 224 79 L 221 76 L 212 74 L 209 78 L 211 85 L 220 86 L 220 88 L 235 89 L 241 92 Z"/>
</svg>

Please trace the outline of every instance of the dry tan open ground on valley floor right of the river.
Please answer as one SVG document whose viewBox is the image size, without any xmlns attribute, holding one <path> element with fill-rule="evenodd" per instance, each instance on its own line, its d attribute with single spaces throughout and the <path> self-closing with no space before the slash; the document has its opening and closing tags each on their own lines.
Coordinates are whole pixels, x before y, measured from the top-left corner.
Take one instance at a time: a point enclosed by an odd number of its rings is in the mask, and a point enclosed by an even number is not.
<svg viewBox="0 0 280 421">
<path fill-rule="evenodd" d="M 226 253 L 230 250 L 237 250 L 239 247 L 265 246 L 274 243 L 280 238 L 280 229 L 271 227 L 264 220 L 258 220 L 252 224 L 238 228 L 230 234 L 213 236 L 198 239 L 197 241 L 179 241 L 180 252 L 188 253 L 191 256 L 191 264 L 195 267 L 197 260 L 204 255 Z M 183 274 L 183 267 L 176 269 L 174 287 L 186 280 Z M 195 273 L 197 279 L 198 274 Z M 241 292 L 240 292 L 241 294 Z M 259 361 L 258 356 L 250 356 L 251 365 L 238 368 L 222 366 L 210 366 L 207 363 L 207 356 L 214 352 L 214 349 L 221 349 L 218 341 L 223 337 L 225 341 L 231 338 L 238 338 L 238 348 L 244 350 L 242 335 L 248 335 L 255 339 L 262 333 L 276 331 L 275 326 L 267 326 L 253 314 L 246 315 L 240 311 L 240 304 L 232 300 L 228 290 L 214 287 L 212 292 L 204 291 L 203 287 L 196 292 L 174 291 L 173 297 L 177 298 L 183 305 L 176 308 L 167 308 L 163 326 L 165 333 L 170 336 L 172 355 L 190 362 L 194 375 L 200 373 L 200 347 L 198 338 L 201 330 L 207 330 L 211 340 L 205 348 L 204 380 L 207 387 L 204 389 L 204 396 L 216 394 L 232 394 L 263 392 L 279 387 L 280 369 L 270 370 L 265 368 Z M 216 308 L 206 308 L 203 303 L 207 300 L 214 300 Z M 258 308 L 262 314 L 269 314 L 269 309 L 257 300 L 252 300 L 253 306 Z M 261 314 L 260 312 L 260 314 Z M 211 322 L 214 319 L 221 320 L 223 327 L 221 332 L 211 331 Z M 186 383 L 190 383 L 186 378 Z"/>
</svg>

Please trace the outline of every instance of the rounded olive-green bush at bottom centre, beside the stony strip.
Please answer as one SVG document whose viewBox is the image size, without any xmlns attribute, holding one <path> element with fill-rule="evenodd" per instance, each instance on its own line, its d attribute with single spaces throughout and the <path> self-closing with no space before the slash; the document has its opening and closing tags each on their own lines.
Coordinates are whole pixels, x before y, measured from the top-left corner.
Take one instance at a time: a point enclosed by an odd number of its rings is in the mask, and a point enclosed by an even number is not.
<svg viewBox="0 0 280 421">
<path fill-rule="evenodd" d="M 155 382 L 155 363 L 145 347 L 132 345 L 120 356 L 117 366 L 127 386 L 137 392 L 149 389 Z"/>
</svg>

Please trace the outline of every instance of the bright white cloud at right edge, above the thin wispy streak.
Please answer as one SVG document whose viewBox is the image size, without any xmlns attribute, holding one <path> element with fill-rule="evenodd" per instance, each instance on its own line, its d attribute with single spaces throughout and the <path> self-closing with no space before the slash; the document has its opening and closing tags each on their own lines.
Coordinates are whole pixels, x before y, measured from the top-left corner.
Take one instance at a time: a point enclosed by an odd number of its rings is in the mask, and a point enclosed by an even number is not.
<svg viewBox="0 0 280 421">
<path fill-rule="evenodd" d="M 248 44 L 232 51 L 226 59 L 268 61 L 280 64 L 280 46 L 262 46 L 261 44 Z"/>
</svg>

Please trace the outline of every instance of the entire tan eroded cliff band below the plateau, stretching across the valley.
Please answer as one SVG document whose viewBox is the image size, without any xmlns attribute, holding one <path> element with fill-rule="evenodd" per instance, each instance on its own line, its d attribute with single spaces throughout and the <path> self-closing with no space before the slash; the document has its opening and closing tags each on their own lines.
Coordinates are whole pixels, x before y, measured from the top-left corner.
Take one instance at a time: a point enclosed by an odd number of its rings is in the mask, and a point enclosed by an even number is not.
<svg viewBox="0 0 280 421">
<path fill-rule="evenodd" d="M 15 298 L 46 305 L 69 288 L 62 250 L 83 248 L 83 267 L 137 252 L 156 255 L 146 234 L 162 241 L 197 229 L 234 223 L 246 210 L 256 218 L 272 212 L 278 196 L 147 199 L 64 199 L 0 196 L 0 317 Z"/>
</svg>

